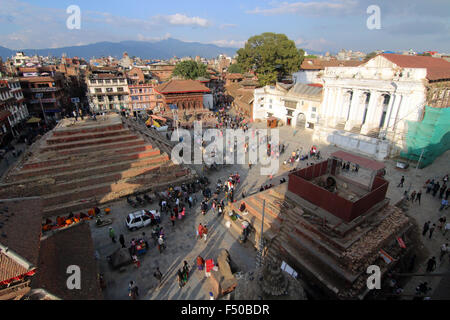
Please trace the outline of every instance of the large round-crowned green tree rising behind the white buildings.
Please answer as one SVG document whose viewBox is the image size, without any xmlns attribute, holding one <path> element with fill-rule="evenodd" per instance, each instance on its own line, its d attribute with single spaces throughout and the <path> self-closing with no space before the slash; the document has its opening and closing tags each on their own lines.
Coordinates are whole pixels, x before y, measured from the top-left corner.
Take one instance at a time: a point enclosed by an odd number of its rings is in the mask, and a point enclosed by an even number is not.
<svg viewBox="0 0 450 320">
<path fill-rule="evenodd" d="M 237 54 L 238 64 L 244 70 L 254 70 L 263 86 L 299 70 L 301 64 L 294 41 L 284 34 L 266 32 L 253 36 Z"/>
</svg>

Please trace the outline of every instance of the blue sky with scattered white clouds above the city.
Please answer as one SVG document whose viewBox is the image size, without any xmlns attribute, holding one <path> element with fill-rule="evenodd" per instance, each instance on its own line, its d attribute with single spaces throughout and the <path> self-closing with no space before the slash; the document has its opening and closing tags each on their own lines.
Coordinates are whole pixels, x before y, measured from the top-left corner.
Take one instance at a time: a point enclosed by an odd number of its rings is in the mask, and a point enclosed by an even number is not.
<svg viewBox="0 0 450 320">
<path fill-rule="evenodd" d="M 80 29 L 67 28 L 71 5 Z M 367 27 L 371 5 L 379 29 Z M 167 38 L 239 48 L 263 32 L 314 51 L 450 53 L 450 0 L 0 0 L 0 46 L 10 49 Z"/>
</svg>

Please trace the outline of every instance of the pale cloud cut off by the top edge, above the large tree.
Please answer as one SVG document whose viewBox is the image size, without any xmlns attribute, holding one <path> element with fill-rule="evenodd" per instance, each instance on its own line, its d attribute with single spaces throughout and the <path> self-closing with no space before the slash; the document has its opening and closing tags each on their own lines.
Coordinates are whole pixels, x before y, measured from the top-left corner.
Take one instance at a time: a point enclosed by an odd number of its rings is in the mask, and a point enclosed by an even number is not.
<svg viewBox="0 0 450 320">
<path fill-rule="evenodd" d="M 246 13 L 262 15 L 281 15 L 281 14 L 299 14 L 299 15 L 329 15 L 329 14 L 349 14 L 358 6 L 357 0 L 330 0 L 330 1 L 298 1 L 282 2 L 272 5 L 272 8 L 261 9 L 256 7 Z"/>
</svg>

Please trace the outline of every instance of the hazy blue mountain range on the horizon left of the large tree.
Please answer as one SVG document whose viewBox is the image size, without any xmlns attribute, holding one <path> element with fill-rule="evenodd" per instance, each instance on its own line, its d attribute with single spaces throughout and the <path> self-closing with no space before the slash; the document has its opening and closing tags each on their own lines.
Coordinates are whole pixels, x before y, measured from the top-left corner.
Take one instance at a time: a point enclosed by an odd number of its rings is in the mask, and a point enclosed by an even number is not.
<svg viewBox="0 0 450 320">
<path fill-rule="evenodd" d="M 53 49 L 24 49 L 11 50 L 0 46 L 0 56 L 3 59 L 13 56 L 16 51 L 23 51 L 28 56 L 35 54 L 40 56 L 61 57 L 65 53 L 68 57 L 80 57 L 84 59 L 113 56 L 121 58 L 124 52 L 130 57 L 136 56 L 142 59 L 170 59 L 174 56 L 215 58 L 219 54 L 234 56 L 237 48 L 219 47 L 214 44 L 199 42 L 184 42 L 177 39 L 165 39 L 155 42 L 146 41 L 122 41 L 122 42 L 98 42 L 83 46 L 53 48 Z"/>
</svg>

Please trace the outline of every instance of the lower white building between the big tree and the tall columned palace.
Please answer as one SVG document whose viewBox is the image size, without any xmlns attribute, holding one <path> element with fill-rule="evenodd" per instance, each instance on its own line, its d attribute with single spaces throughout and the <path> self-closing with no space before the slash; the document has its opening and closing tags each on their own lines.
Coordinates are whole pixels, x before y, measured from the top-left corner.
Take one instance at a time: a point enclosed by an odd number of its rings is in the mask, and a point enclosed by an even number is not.
<svg viewBox="0 0 450 320">
<path fill-rule="evenodd" d="M 271 117 L 299 129 L 314 129 L 322 103 L 322 86 L 277 83 L 255 89 L 253 120 Z"/>
</svg>

